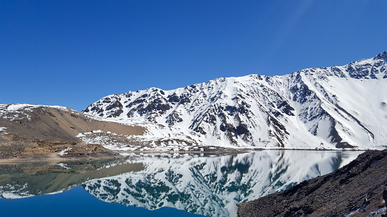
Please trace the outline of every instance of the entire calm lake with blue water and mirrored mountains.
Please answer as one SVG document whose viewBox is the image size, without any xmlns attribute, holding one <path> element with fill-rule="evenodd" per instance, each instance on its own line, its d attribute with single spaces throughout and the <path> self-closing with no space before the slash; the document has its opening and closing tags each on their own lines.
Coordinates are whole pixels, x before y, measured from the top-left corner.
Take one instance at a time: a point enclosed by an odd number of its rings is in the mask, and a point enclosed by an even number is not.
<svg viewBox="0 0 387 217">
<path fill-rule="evenodd" d="M 363 151 L 125 154 L 0 165 L 1 216 L 236 216 L 241 202 L 337 170 Z"/>
</svg>

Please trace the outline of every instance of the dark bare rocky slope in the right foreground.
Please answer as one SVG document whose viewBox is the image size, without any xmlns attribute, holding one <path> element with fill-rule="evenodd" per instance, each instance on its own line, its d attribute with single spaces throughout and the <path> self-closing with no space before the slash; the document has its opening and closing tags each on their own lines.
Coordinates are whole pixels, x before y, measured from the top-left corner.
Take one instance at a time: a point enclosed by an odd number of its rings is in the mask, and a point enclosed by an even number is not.
<svg viewBox="0 0 387 217">
<path fill-rule="evenodd" d="M 387 216 L 387 150 L 366 151 L 325 176 L 238 205 L 238 216 Z"/>
</svg>

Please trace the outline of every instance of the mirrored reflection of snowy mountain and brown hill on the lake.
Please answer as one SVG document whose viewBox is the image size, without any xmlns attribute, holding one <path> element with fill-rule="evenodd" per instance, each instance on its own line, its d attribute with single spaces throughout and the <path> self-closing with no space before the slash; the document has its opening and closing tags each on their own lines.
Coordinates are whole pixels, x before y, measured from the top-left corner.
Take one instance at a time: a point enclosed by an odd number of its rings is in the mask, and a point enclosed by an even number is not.
<svg viewBox="0 0 387 217">
<path fill-rule="evenodd" d="M 236 204 L 332 172 L 360 153 L 271 150 L 231 155 L 129 154 L 93 164 L 39 165 L 34 170 L 17 165 L 1 171 L 0 197 L 58 193 L 82 186 L 110 203 L 236 216 Z"/>
</svg>

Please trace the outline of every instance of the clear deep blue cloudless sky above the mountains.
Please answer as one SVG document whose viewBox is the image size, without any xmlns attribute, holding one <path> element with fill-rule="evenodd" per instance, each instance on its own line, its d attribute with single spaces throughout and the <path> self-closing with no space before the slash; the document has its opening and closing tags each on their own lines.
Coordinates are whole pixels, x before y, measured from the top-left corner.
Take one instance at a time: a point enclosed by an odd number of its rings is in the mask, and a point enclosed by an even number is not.
<svg viewBox="0 0 387 217">
<path fill-rule="evenodd" d="M 387 50 L 386 0 L 0 0 L 0 103 L 341 66 Z"/>
</svg>

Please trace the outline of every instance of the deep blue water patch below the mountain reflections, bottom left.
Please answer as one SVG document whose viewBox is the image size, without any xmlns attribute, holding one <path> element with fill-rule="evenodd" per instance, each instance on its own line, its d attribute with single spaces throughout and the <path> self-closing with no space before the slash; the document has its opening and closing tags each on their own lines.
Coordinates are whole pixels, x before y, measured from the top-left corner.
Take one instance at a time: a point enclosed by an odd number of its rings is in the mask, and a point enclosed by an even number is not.
<svg viewBox="0 0 387 217">
<path fill-rule="evenodd" d="M 200 216 L 164 207 L 154 211 L 125 207 L 98 200 L 78 186 L 64 193 L 38 195 L 22 199 L 0 199 L 1 216 Z"/>
</svg>

